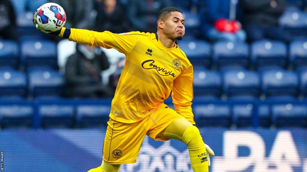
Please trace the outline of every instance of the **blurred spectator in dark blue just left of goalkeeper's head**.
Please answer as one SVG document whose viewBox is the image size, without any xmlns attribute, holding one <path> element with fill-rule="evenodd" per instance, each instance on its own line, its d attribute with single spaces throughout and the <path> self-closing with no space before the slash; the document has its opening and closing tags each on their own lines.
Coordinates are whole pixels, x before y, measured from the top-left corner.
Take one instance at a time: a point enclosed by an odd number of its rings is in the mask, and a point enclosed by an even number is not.
<svg viewBox="0 0 307 172">
<path fill-rule="evenodd" d="M 169 0 L 133 0 L 128 3 L 128 20 L 134 30 L 157 32 L 158 13 L 169 6 L 171 6 Z"/>
</svg>

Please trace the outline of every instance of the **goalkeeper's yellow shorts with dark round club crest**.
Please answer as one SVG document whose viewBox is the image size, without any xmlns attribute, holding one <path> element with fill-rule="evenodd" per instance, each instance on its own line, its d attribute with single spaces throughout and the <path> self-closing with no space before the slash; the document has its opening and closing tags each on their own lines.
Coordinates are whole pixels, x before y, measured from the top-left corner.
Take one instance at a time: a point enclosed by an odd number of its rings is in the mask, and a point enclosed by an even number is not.
<svg viewBox="0 0 307 172">
<path fill-rule="evenodd" d="M 145 135 L 154 140 L 169 140 L 157 134 L 179 118 L 184 117 L 164 103 L 135 123 L 122 123 L 110 118 L 103 143 L 103 161 L 107 164 L 135 163 Z"/>
</svg>

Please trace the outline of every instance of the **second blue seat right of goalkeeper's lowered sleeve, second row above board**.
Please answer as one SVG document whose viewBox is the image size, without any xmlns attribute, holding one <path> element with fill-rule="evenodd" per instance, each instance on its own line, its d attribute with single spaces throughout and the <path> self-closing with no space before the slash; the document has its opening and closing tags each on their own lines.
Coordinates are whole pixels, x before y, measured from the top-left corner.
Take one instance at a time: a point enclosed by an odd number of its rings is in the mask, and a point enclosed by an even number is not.
<svg viewBox="0 0 307 172">
<path fill-rule="evenodd" d="M 223 92 L 227 96 L 258 96 L 260 92 L 260 78 L 258 73 L 248 70 L 223 73 Z"/>
</svg>

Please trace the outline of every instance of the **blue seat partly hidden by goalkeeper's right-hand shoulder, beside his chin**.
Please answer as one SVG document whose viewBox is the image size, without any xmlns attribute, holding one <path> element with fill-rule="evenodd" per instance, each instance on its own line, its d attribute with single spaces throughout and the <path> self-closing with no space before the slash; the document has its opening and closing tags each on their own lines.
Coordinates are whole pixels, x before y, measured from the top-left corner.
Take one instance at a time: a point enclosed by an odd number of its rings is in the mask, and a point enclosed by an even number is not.
<svg viewBox="0 0 307 172">
<path fill-rule="evenodd" d="M 183 50 L 192 65 L 211 65 L 211 46 L 208 42 L 197 39 L 184 39 L 178 41 L 178 45 Z"/>
</svg>

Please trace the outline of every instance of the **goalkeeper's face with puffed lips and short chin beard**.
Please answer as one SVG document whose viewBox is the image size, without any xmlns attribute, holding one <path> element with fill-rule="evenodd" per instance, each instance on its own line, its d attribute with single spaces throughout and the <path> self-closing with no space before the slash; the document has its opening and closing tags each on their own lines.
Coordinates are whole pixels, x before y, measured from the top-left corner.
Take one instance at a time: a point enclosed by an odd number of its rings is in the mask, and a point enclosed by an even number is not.
<svg viewBox="0 0 307 172">
<path fill-rule="evenodd" d="M 169 36 L 169 39 L 181 40 L 185 35 L 185 20 L 180 12 L 171 12 L 171 15 L 165 20 L 163 32 Z"/>
</svg>

